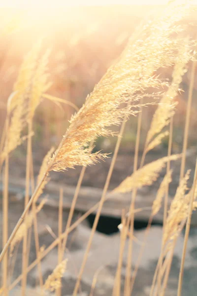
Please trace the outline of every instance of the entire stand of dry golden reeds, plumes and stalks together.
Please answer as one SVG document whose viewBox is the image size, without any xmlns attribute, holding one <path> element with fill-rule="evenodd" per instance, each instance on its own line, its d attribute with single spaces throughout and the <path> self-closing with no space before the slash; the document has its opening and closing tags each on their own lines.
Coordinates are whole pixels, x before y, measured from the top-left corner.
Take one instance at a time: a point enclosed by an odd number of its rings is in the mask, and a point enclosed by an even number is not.
<svg viewBox="0 0 197 296">
<path fill-rule="evenodd" d="M 6 103 L 6 118 L 2 129 L 0 145 L 0 170 L 3 180 L 3 248 L 0 254 L 0 263 L 2 265 L 2 287 L 1 295 L 7 296 L 9 291 L 19 282 L 21 283 L 21 295 L 25 296 L 27 288 L 27 277 L 35 266 L 37 266 L 39 275 L 40 295 L 44 295 L 46 290 L 61 296 L 61 278 L 66 272 L 66 243 L 67 236 L 71 229 L 75 228 L 80 221 L 83 221 L 92 209 L 85 213 L 81 219 L 71 224 L 79 189 L 85 174 L 86 167 L 96 164 L 98 161 L 104 161 L 107 157 L 112 157 L 112 161 L 107 174 L 106 182 L 103 187 L 102 196 L 97 207 L 96 218 L 91 230 L 89 241 L 87 242 L 86 252 L 78 273 L 73 296 L 76 296 L 84 267 L 88 260 L 88 255 L 93 242 L 93 237 L 99 222 L 102 206 L 106 199 L 112 172 L 120 148 L 126 122 L 130 117 L 137 119 L 134 170 L 131 176 L 127 177 L 120 185 L 111 192 L 131 192 L 130 211 L 127 215 L 123 212 L 121 231 L 120 231 L 120 257 L 116 276 L 114 278 L 113 296 L 121 294 L 121 268 L 122 256 L 126 240 L 129 240 L 129 251 L 127 260 L 127 272 L 124 286 L 124 295 L 132 294 L 133 284 L 137 274 L 138 264 L 146 243 L 146 237 L 149 233 L 153 217 L 160 211 L 164 198 L 164 231 L 162 239 L 161 255 L 158 258 L 158 265 L 155 270 L 153 284 L 150 295 L 164 295 L 170 266 L 173 257 L 174 246 L 181 230 L 186 225 L 185 241 L 183 248 L 182 263 L 180 266 L 180 275 L 178 283 L 178 296 L 181 296 L 181 287 L 183 280 L 184 258 L 187 248 L 188 235 L 190 230 L 190 221 L 193 210 L 197 207 L 196 202 L 196 181 L 197 173 L 193 185 L 188 188 L 190 171 L 185 172 L 186 150 L 188 143 L 188 131 L 190 129 L 191 100 L 194 86 L 194 76 L 196 67 L 196 43 L 189 35 L 189 29 L 185 19 L 190 18 L 190 13 L 194 13 L 195 7 L 190 5 L 169 4 L 162 15 L 158 15 L 153 20 L 147 21 L 139 26 L 135 33 L 129 38 L 128 44 L 120 57 L 107 70 L 106 74 L 96 84 L 94 90 L 87 96 L 85 103 L 76 111 L 69 120 L 69 126 L 64 133 L 59 146 L 50 148 L 43 159 L 39 175 L 34 185 L 33 177 L 33 143 L 34 136 L 33 123 L 36 112 L 41 108 L 41 101 L 49 99 L 58 108 L 61 104 L 68 104 L 78 108 L 70 101 L 63 100 L 57 96 L 48 93 L 51 84 L 49 77 L 48 61 L 50 52 L 45 50 L 43 40 L 37 40 L 31 51 L 26 55 L 20 67 L 18 77 L 13 85 L 13 91 L 9 95 Z M 5 30 L 6 32 L 6 30 Z M 7 32 L 5 34 L 8 34 Z M 74 41 L 72 41 L 74 42 Z M 185 117 L 185 131 L 183 151 L 181 154 L 172 154 L 172 135 L 173 135 L 173 117 L 176 113 L 177 96 L 181 91 L 181 82 L 189 65 L 192 64 L 192 74 L 190 78 L 190 91 L 188 97 L 188 107 Z M 163 69 L 170 69 L 171 76 L 163 77 L 159 75 Z M 55 106 L 55 105 L 54 105 Z M 142 129 L 143 112 L 157 106 L 153 115 L 147 137 L 144 141 L 144 149 L 140 166 L 137 166 L 139 158 L 139 143 Z M 120 131 L 114 132 L 113 126 L 120 126 Z M 117 135 L 116 135 L 117 134 Z M 113 135 L 117 137 L 113 155 L 108 155 L 104 151 L 94 152 L 94 143 L 99 137 L 108 137 Z M 168 136 L 168 154 L 156 161 L 144 165 L 144 160 L 148 151 L 159 146 L 163 139 Z M 144 140 L 144 139 L 142 139 Z M 13 151 L 21 144 L 27 144 L 26 155 L 26 193 L 24 200 L 24 212 L 17 222 L 13 232 L 8 236 L 8 195 L 9 195 L 9 160 Z M 181 159 L 180 182 L 176 194 L 168 209 L 168 186 L 172 180 L 171 161 Z M 195 160 L 194 160 L 195 162 Z M 59 233 L 58 238 L 42 250 L 39 244 L 37 231 L 37 214 L 41 211 L 45 198 L 42 193 L 45 185 L 50 182 L 51 171 L 65 171 L 68 168 L 82 166 L 79 181 L 72 200 L 66 229 L 62 226 L 62 201 L 63 192 L 60 188 L 60 209 L 59 209 Z M 132 243 L 133 243 L 133 223 L 135 199 L 137 190 L 145 185 L 152 185 L 161 170 L 166 166 L 166 175 L 155 196 L 152 207 L 152 214 L 146 228 L 144 241 L 139 248 L 139 257 L 134 272 L 131 272 L 132 266 Z M 96 168 L 96 167 L 95 167 Z M 96 168 L 97 169 L 97 168 Z M 196 168 L 197 170 L 197 168 Z M 57 185 L 58 186 L 58 185 Z M 31 188 L 31 191 L 30 191 Z M 188 193 L 189 189 L 189 193 Z M 30 196 L 30 192 L 32 195 Z M 110 197 L 110 196 L 109 196 Z M 123 195 L 124 198 L 124 195 Z M 37 200 L 40 200 L 39 205 Z M 123 209 L 124 210 L 124 209 Z M 28 237 L 31 237 L 31 228 L 36 248 L 36 260 L 29 265 Z M 129 235 L 128 235 L 129 234 Z M 10 283 L 10 264 L 13 254 L 17 254 L 17 246 L 23 244 L 22 256 L 22 274 L 14 282 Z M 48 279 L 43 281 L 42 259 L 48 253 L 58 248 L 57 267 Z M 17 256 L 17 255 L 16 255 Z M 55 295 L 55 294 L 54 294 Z"/>
</svg>

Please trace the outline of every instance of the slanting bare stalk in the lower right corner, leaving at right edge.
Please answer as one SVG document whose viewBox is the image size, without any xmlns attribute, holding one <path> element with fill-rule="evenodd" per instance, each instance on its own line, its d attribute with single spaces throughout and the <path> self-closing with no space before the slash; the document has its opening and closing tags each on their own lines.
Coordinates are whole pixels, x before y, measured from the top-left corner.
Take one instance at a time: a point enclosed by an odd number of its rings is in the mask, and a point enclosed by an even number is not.
<svg viewBox="0 0 197 296">
<path fill-rule="evenodd" d="M 181 296 L 182 282 L 183 282 L 183 272 L 184 272 L 184 263 L 185 263 L 186 249 L 187 249 L 187 243 L 188 243 L 188 238 L 189 238 L 189 233 L 190 233 L 190 225 L 191 225 L 191 218 L 192 218 L 192 212 L 193 212 L 193 203 L 194 203 L 194 199 L 195 199 L 196 184 L 197 184 L 197 160 L 196 160 L 196 168 L 195 168 L 193 188 L 192 188 L 192 193 L 191 193 L 191 198 L 190 198 L 188 219 L 187 219 L 187 223 L 186 223 L 185 238 L 184 238 L 184 245 L 183 245 L 183 253 L 182 253 L 181 267 L 180 267 L 180 272 L 179 272 L 179 282 L 178 282 L 177 296 Z"/>
</svg>

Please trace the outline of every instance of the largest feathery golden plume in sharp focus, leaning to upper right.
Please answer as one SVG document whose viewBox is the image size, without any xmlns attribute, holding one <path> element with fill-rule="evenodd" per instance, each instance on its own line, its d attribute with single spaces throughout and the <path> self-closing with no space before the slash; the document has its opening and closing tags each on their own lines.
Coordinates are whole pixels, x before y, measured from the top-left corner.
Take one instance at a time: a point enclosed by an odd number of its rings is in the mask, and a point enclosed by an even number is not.
<svg viewBox="0 0 197 296">
<path fill-rule="evenodd" d="M 135 114 L 132 105 L 136 94 L 139 100 L 148 88 L 159 89 L 162 84 L 167 84 L 156 77 L 156 71 L 180 61 L 180 48 L 186 47 L 185 38 L 171 38 L 173 33 L 179 31 L 177 22 L 184 17 L 187 9 L 176 7 L 175 10 L 174 13 L 173 9 L 168 9 L 162 20 L 160 18 L 144 26 L 140 39 L 134 43 L 131 38 L 121 57 L 95 86 L 83 107 L 72 116 L 70 126 L 60 144 L 61 149 L 58 150 L 50 170 L 65 170 L 76 165 L 87 166 L 102 157 L 100 154 L 87 153 L 89 143 L 99 136 L 110 135 L 108 128 L 119 125 L 125 114 Z M 187 46 L 189 45 L 187 42 Z M 173 94 L 174 92 L 173 90 Z M 171 93 L 166 97 L 169 101 Z M 128 103 L 131 103 L 129 108 L 122 108 L 122 104 Z M 162 115 L 166 112 L 169 118 L 166 106 L 163 109 Z M 162 126 L 165 123 L 166 119 Z"/>
</svg>

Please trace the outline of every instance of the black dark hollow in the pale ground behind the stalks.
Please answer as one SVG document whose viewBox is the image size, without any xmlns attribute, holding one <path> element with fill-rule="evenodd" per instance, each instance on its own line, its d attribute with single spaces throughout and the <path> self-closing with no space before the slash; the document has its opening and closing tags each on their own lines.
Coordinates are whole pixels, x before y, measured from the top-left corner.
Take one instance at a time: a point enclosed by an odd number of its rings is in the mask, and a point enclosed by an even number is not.
<svg viewBox="0 0 197 296">
<path fill-rule="evenodd" d="M 95 215 L 91 214 L 87 218 L 90 227 L 92 228 Z M 120 218 L 110 217 L 110 216 L 100 216 L 99 223 L 97 225 L 97 231 L 104 233 L 104 234 L 113 234 L 119 231 L 118 225 L 121 223 Z M 148 225 L 148 221 L 143 220 L 135 220 L 134 221 L 134 229 L 144 229 Z M 162 226 L 161 222 L 153 222 L 152 225 L 160 225 Z"/>
</svg>

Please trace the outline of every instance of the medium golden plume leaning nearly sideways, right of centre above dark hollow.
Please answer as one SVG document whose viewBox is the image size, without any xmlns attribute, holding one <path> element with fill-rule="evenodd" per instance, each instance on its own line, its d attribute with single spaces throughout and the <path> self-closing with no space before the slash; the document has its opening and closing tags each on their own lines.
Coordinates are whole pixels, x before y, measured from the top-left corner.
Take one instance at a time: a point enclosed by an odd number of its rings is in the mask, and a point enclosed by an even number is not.
<svg viewBox="0 0 197 296">
<path fill-rule="evenodd" d="M 180 154 L 174 154 L 146 164 L 141 169 L 134 172 L 130 177 L 127 177 L 112 192 L 128 192 L 133 188 L 141 188 L 142 186 L 152 185 L 159 177 L 159 173 L 164 168 L 165 163 L 168 160 L 177 160 L 179 157 Z"/>
</svg>

